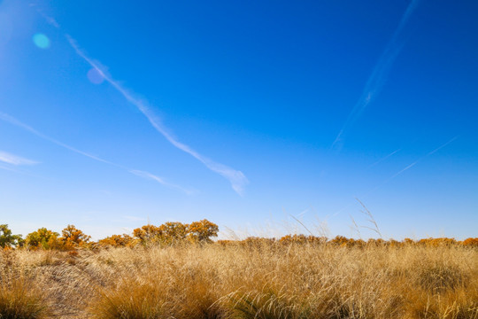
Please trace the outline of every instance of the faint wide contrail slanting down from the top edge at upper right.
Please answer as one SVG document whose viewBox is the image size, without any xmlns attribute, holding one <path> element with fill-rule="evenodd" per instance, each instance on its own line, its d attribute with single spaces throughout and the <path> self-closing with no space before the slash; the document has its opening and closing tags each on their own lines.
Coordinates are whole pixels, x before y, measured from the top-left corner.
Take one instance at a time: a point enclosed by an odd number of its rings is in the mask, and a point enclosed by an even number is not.
<svg viewBox="0 0 478 319">
<path fill-rule="evenodd" d="M 353 106 L 351 113 L 349 113 L 347 120 L 343 124 L 342 129 L 335 137 L 335 141 L 331 146 L 332 148 L 337 147 L 339 150 L 342 148 L 343 136 L 345 135 L 346 131 L 355 121 L 357 121 L 360 114 L 364 112 L 366 107 L 372 103 L 372 101 L 374 101 L 374 98 L 382 90 L 382 86 L 387 79 L 389 70 L 403 47 L 403 43 L 397 43 L 397 38 L 408 22 L 408 19 L 410 19 L 410 16 L 412 15 L 412 12 L 415 10 L 419 1 L 420 0 L 412 0 L 412 2 L 408 4 L 402 19 L 400 19 L 397 29 L 390 38 L 385 50 L 382 52 L 382 56 L 375 65 L 374 71 L 368 78 L 362 95 L 360 98 L 358 98 L 357 103 Z"/>
</svg>

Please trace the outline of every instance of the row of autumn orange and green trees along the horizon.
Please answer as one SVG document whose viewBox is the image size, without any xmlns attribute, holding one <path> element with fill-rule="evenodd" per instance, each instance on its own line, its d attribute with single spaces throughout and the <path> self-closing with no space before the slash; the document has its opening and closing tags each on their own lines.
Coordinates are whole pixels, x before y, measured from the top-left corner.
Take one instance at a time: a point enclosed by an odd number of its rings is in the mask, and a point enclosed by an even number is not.
<svg viewBox="0 0 478 319">
<path fill-rule="evenodd" d="M 212 237 L 217 237 L 219 227 L 213 222 L 202 220 L 199 222 L 181 223 L 165 222 L 155 226 L 144 225 L 133 230 L 133 234 L 112 235 L 98 241 L 92 241 L 89 235 L 78 230 L 74 225 L 68 225 L 61 231 L 61 236 L 55 231 L 41 228 L 23 238 L 13 235 L 8 225 L 0 225 L 0 247 L 4 249 L 23 248 L 29 250 L 60 250 L 72 251 L 78 248 L 104 247 L 134 247 L 137 245 L 176 245 L 176 244 L 204 244 L 212 243 Z M 459 241 L 455 238 L 405 238 L 402 241 L 395 239 L 370 238 L 367 240 L 336 236 L 334 238 L 305 235 L 286 235 L 281 238 L 247 237 L 243 240 L 218 240 L 218 245 L 243 245 L 260 247 L 261 245 L 335 245 L 341 247 L 390 246 L 403 247 L 407 245 L 423 246 L 451 246 L 463 245 L 478 247 L 478 237 L 470 237 Z"/>
</svg>

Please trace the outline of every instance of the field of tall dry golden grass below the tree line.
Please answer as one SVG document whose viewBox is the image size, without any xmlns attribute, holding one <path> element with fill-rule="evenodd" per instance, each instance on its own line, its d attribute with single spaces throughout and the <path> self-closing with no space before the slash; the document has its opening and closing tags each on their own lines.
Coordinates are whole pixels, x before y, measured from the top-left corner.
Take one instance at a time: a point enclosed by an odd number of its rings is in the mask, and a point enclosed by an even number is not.
<svg viewBox="0 0 478 319">
<path fill-rule="evenodd" d="M 478 249 L 461 245 L 19 250 L 0 268 L 61 318 L 478 319 Z"/>
</svg>

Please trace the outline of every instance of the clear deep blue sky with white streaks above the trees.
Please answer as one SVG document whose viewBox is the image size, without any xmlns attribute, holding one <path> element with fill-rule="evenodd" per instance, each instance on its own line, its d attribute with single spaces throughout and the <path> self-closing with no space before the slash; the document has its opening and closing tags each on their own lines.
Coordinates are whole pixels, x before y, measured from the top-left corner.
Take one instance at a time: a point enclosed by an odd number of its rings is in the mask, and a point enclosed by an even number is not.
<svg viewBox="0 0 478 319">
<path fill-rule="evenodd" d="M 374 237 L 358 198 L 476 237 L 477 34 L 464 0 L 5 0 L 0 223 Z"/>
</svg>

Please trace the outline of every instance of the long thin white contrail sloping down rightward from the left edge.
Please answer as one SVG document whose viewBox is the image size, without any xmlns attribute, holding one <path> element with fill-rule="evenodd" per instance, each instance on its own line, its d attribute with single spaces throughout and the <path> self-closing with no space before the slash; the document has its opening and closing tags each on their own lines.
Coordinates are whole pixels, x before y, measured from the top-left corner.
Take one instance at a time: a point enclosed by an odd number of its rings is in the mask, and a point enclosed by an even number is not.
<svg viewBox="0 0 478 319">
<path fill-rule="evenodd" d="M 9 122 L 12 125 L 15 125 L 19 128 L 23 128 L 23 129 L 29 131 L 30 133 L 34 134 L 35 136 L 38 136 L 38 137 L 40 137 L 40 138 L 42 138 L 46 141 L 49 141 L 53 144 L 57 144 L 58 146 L 61 146 L 61 147 L 65 148 L 69 151 L 72 151 L 72 152 L 78 153 L 82 156 L 88 157 L 89 159 L 94 159 L 94 160 L 102 162 L 104 164 L 108 164 L 108 165 L 111 165 L 113 167 L 118 167 L 118 168 L 127 170 L 127 172 L 129 172 L 131 174 L 134 174 L 134 175 L 137 175 L 137 176 L 140 176 L 140 177 L 143 177 L 143 178 L 148 178 L 148 179 L 154 180 L 154 181 L 156 181 L 160 184 L 165 185 L 166 187 L 173 188 L 173 189 L 176 189 L 176 190 L 180 190 L 180 191 L 183 191 L 187 194 L 192 194 L 193 193 L 193 191 L 186 190 L 186 189 L 182 188 L 181 186 L 175 185 L 173 183 L 167 183 L 161 177 L 158 177 L 156 175 L 152 175 L 149 172 L 143 172 L 143 171 L 131 169 L 131 168 L 128 168 L 128 167 L 124 167 L 124 166 L 122 166 L 120 164 L 117 164 L 117 163 L 114 163 L 112 161 L 109 161 L 109 160 L 106 160 L 106 159 L 101 159 L 101 158 L 99 158 L 95 155 L 92 155 L 92 154 L 88 153 L 88 152 L 83 152 L 81 150 L 78 150 L 77 148 L 74 148 L 73 146 L 62 143 L 62 142 L 60 142 L 60 141 L 58 141 L 58 140 L 56 140 L 56 139 L 54 139 L 50 136 L 44 135 L 43 133 L 37 131 L 35 128 L 32 128 L 32 127 L 28 126 L 27 124 L 15 119 L 14 117 L 12 117 L 9 114 L 0 112 L 0 120 Z M 0 160 L 1 160 L 1 156 L 2 156 L 2 152 L 0 152 Z M 0 168 L 4 168 L 4 167 L 0 167 Z M 4 169 L 6 169 L 6 168 L 4 168 Z M 12 169 L 9 169 L 9 170 L 12 170 Z M 138 174 L 138 172 L 141 172 L 142 174 Z"/>
</svg>

